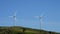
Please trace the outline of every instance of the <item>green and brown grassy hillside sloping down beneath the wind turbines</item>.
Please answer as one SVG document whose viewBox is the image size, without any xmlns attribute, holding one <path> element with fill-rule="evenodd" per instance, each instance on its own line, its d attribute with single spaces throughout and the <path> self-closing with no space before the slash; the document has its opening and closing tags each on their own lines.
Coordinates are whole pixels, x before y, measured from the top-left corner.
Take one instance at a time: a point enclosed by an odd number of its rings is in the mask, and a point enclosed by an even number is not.
<svg viewBox="0 0 60 34">
<path fill-rule="evenodd" d="M 0 27 L 0 34 L 60 34 L 60 33 L 16 26 L 16 27 Z"/>
</svg>

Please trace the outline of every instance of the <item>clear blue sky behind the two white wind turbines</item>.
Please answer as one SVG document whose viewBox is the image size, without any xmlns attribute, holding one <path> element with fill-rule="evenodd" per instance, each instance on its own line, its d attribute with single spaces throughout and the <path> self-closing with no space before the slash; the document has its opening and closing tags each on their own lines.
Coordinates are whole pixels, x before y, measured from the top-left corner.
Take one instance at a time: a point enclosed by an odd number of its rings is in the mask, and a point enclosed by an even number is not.
<svg viewBox="0 0 60 34">
<path fill-rule="evenodd" d="M 44 13 L 42 29 L 60 32 L 60 0 L 0 0 L 0 26 L 13 26 L 17 11 L 17 26 L 40 28 L 38 18 Z"/>
</svg>

